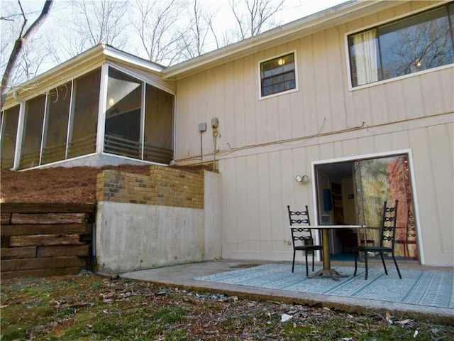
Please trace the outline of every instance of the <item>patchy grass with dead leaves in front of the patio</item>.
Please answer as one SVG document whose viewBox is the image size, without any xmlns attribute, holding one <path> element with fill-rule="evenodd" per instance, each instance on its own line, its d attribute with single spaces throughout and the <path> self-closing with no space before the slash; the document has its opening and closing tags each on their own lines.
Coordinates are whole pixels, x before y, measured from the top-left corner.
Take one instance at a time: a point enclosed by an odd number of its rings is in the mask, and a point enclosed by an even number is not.
<svg viewBox="0 0 454 341">
<path fill-rule="evenodd" d="M 162 293 L 165 292 L 165 295 Z M 281 315 L 292 320 L 281 322 Z M 453 325 L 348 314 L 92 274 L 4 281 L 8 340 L 453 340 Z M 417 337 L 414 337 L 417 332 Z"/>
</svg>

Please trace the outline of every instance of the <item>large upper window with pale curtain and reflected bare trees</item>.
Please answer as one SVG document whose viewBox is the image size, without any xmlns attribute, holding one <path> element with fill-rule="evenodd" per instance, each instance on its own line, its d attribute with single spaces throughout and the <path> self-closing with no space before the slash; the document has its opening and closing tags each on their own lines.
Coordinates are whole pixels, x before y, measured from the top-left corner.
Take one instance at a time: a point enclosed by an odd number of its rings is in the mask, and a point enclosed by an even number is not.
<svg viewBox="0 0 454 341">
<path fill-rule="evenodd" d="M 348 36 L 352 86 L 454 62 L 454 3 Z"/>
</svg>

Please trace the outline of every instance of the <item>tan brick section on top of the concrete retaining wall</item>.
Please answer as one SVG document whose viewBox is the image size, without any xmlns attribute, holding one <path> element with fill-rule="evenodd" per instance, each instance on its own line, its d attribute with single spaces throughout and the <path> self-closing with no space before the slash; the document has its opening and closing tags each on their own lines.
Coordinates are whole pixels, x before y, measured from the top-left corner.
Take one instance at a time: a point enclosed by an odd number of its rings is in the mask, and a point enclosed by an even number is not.
<svg viewBox="0 0 454 341">
<path fill-rule="evenodd" d="M 204 208 L 204 173 L 151 166 L 150 176 L 103 171 L 96 181 L 96 201 Z"/>
</svg>

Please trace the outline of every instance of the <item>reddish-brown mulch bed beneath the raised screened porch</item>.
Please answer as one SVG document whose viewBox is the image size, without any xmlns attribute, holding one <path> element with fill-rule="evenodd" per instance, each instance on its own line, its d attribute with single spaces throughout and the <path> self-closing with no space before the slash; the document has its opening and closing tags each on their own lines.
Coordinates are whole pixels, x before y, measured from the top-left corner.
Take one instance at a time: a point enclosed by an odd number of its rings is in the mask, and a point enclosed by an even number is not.
<svg viewBox="0 0 454 341">
<path fill-rule="evenodd" d="M 184 171 L 209 170 L 204 166 L 172 166 Z M 30 171 L 2 171 L 1 202 L 89 203 L 96 202 L 96 175 L 106 169 L 148 174 L 150 166 L 55 167 Z"/>
</svg>

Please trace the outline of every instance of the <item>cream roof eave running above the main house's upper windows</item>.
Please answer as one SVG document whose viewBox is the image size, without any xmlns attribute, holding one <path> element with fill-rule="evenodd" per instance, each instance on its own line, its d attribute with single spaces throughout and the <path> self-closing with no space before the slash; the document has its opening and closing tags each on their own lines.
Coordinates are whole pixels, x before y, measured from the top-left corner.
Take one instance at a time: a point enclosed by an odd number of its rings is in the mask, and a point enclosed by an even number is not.
<svg viewBox="0 0 454 341">
<path fill-rule="evenodd" d="M 260 52 L 275 45 L 309 36 L 326 28 L 338 26 L 356 18 L 377 13 L 406 1 L 352 0 L 324 11 L 292 21 L 270 31 L 214 50 L 200 57 L 167 67 L 162 71 L 164 80 L 179 80 L 197 72 L 216 67 L 231 60 Z"/>
</svg>

